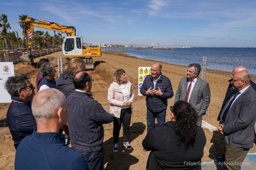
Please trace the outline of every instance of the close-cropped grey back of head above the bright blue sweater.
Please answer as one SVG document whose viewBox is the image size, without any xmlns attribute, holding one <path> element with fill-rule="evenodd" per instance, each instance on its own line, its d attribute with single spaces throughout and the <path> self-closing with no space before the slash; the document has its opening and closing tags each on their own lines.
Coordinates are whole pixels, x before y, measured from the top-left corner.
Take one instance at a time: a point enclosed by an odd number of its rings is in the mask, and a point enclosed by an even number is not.
<svg viewBox="0 0 256 170">
<path fill-rule="evenodd" d="M 57 89 L 49 88 L 38 92 L 32 102 L 32 113 L 36 121 L 47 121 L 57 116 L 60 108 L 67 109 L 65 95 Z"/>
</svg>

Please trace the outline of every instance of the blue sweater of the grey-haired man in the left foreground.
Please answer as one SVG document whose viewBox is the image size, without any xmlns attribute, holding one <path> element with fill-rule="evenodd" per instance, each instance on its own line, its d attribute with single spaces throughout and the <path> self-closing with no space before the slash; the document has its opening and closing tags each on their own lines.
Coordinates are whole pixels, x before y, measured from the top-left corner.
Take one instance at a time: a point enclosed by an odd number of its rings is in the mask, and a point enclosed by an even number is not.
<svg viewBox="0 0 256 170">
<path fill-rule="evenodd" d="M 38 133 L 26 137 L 18 147 L 15 170 L 88 170 L 84 157 L 65 144 L 60 133 Z"/>
</svg>

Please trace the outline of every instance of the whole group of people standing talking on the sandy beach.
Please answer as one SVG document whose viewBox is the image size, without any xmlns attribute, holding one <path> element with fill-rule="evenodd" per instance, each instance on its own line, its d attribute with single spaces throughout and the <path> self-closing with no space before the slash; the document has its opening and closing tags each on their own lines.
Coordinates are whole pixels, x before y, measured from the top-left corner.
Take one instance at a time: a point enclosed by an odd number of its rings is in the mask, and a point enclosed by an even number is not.
<svg viewBox="0 0 256 170">
<path fill-rule="evenodd" d="M 167 101 L 174 92 L 170 79 L 162 74 L 162 65 L 152 64 L 151 74 L 140 89 L 146 96 L 147 135 L 142 146 L 144 152 L 151 151 L 148 170 L 200 168 L 206 145 L 202 115 L 210 104 L 210 87 L 199 78 L 200 70 L 200 64 L 188 66 L 174 105 L 170 106 L 171 121 L 166 122 Z M 114 72 L 114 81 L 108 88 L 109 112 L 94 100 L 94 80 L 82 59 L 72 59 L 57 81 L 55 73 L 52 63 L 42 61 L 36 95 L 25 74 L 9 77 L 5 83 L 12 98 L 7 120 L 16 149 L 15 169 L 101 170 L 102 124 L 111 122 L 113 152 L 118 152 L 121 126 L 123 145 L 131 150 L 129 128 L 134 92 L 126 71 L 120 68 Z M 231 78 L 218 118 L 219 130 L 225 136 L 225 161 L 243 162 L 255 138 L 256 86 L 244 66 L 234 68 Z M 69 135 L 72 149 L 60 129 Z M 239 165 L 228 164 L 227 168 L 239 169 Z"/>
</svg>

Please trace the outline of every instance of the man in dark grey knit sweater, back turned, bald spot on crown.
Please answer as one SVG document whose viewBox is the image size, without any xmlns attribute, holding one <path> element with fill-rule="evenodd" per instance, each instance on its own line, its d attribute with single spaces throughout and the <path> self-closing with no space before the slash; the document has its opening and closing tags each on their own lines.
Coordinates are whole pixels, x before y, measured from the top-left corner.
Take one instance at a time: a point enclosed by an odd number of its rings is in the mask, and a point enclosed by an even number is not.
<svg viewBox="0 0 256 170">
<path fill-rule="evenodd" d="M 68 96 L 68 129 L 72 148 L 82 153 L 90 170 L 102 170 L 104 123 L 113 121 L 92 98 L 91 89 L 94 80 L 85 71 L 74 77 L 76 90 Z"/>
</svg>

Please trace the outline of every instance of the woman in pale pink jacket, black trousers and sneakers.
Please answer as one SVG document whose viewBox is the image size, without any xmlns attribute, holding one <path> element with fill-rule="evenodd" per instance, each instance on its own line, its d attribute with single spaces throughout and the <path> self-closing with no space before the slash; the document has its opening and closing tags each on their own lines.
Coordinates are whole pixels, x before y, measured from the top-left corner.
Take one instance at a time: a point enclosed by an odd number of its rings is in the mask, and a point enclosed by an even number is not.
<svg viewBox="0 0 256 170">
<path fill-rule="evenodd" d="M 134 92 L 132 84 L 126 80 L 126 72 L 119 68 L 114 72 L 114 82 L 108 88 L 108 102 L 110 102 L 110 113 L 114 118 L 114 147 L 113 151 L 118 152 L 118 137 L 123 124 L 124 146 L 131 150 L 129 143 L 129 129 L 132 114 L 132 102 Z"/>
</svg>

